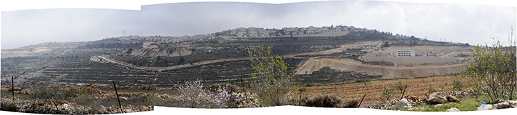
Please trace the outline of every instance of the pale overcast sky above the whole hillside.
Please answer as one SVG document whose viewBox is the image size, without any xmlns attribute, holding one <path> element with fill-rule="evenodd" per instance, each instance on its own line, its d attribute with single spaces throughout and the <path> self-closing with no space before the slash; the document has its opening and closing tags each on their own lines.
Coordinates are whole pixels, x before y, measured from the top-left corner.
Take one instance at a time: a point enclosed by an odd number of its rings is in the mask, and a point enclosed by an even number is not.
<svg viewBox="0 0 517 115">
<path fill-rule="evenodd" d="M 395 1 L 190 2 L 139 10 L 58 8 L 1 12 L 1 49 L 125 35 L 184 36 L 234 28 L 352 25 L 420 38 L 485 44 L 506 41 L 516 7 Z M 514 29 L 514 33 L 515 30 Z"/>
</svg>

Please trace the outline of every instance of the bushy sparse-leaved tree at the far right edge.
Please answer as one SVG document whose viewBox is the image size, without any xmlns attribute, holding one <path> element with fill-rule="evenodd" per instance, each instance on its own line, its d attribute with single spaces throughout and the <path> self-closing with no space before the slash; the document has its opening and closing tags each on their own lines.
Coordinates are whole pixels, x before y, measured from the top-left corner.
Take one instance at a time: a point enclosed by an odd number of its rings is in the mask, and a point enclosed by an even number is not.
<svg viewBox="0 0 517 115">
<path fill-rule="evenodd" d="M 493 45 L 477 45 L 471 48 L 472 55 L 467 61 L 467 70 L 463 71 L 480 91 L 488 94 L 491 101 L 496 98 L 515 99 L 517 92 L 516 75 L 516 41 L 514 29 L 508 36 L 509 46 L 505 47 L 496 38 Z"/>
</svg>

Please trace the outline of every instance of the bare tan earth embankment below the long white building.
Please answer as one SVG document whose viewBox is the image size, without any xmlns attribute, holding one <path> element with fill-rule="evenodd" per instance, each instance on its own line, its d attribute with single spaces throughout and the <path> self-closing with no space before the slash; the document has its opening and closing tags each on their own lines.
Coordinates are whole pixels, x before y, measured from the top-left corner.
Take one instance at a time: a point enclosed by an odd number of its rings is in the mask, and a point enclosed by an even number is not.
<svg viewBox="0 0 517 115">
<path fill-rule="evenodd" d="M 440 65 L 440 66 L 382 66 L 368 65 L 360 61 L 352 59 L 338 58 L 310 58 L 301 64 L 296 70 L 296 74 L 311 74 L 322 67 L 328 66 L 336 70 L 351 70 L 354 72 L 366 72 L 368 74 L 383 75 L 383 79 L 410 78 L 418 76 L 437 76 L 460 72 L 461 68 L 465 69 L 465 64 Z"/>
</svg>

